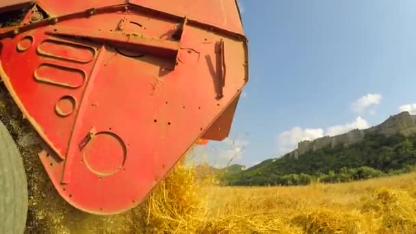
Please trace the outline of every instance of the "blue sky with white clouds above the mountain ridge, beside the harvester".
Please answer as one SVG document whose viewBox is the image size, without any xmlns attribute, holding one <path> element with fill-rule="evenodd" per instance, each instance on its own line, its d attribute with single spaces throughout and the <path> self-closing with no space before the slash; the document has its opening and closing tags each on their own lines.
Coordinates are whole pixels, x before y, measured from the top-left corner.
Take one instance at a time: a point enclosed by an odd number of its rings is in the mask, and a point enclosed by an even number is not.
<svg viewBox="0 0 416 234">
<path fill-rule="evenodd" d="M 240 0 L 248 86 L 211 164 L 252 166 L 299 140 L 416 111 L 416 1 Z M 405 106 L 407 105 L 407 106 Z"/>
</svg>

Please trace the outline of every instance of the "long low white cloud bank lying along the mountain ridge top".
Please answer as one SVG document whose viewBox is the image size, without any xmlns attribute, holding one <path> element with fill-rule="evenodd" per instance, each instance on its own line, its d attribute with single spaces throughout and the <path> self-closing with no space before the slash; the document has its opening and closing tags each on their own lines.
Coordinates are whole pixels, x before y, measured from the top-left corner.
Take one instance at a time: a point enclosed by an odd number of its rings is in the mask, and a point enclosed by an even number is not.
<svg viewBox="0 0 416 234">
<path fill-rule="evenodd" d="M 315 140 L 316 138 L 322 138 L 324 135 L 339 135 L 352 129 L 366 129 L 368 127 L 368 122 L 361 116 L 344 125 L 328 127 L 326 131 L 322 128 L 302 129 L 301 127 L 294 127 L 290 131 L 283 131 L 278 135 L 278 153 L 283 155 L 293 151 L 298 147 L 298 142 L 303 140 Z"/>
</svg>

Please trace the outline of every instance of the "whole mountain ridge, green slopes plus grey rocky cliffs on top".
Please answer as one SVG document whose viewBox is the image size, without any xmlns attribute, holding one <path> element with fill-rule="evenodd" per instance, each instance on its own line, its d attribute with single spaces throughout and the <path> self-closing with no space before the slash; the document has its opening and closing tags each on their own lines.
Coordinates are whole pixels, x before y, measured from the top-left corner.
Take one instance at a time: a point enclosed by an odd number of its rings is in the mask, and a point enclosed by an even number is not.
<svg viewBox="0 0 416 234">
<path fill-rule="evenodd" d="M 222 179 L 228 185 L 293 185 L 408 172 L 416 165 L 416 116 L 401 112 L 380 125 L 300 142 L 300 146 L 301 155 L 297 148 Z"/>
</svg>

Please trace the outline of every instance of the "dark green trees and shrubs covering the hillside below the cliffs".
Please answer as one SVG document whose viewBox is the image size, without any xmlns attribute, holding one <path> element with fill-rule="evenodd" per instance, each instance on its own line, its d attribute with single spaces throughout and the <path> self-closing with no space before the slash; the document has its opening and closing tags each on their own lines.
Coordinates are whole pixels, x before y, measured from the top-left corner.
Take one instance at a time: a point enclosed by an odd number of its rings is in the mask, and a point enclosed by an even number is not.
<svg viewBox="0 0 416 234">
<path fill-rule="evenodd" d="M 298 159 L 285 155 L 233 174 L 224 174 L 226 185 L 307 185 L 402 174 L 416 165 L 416 134 L 365 135 L 350 146 L 309 151 Z"/>
</svg>

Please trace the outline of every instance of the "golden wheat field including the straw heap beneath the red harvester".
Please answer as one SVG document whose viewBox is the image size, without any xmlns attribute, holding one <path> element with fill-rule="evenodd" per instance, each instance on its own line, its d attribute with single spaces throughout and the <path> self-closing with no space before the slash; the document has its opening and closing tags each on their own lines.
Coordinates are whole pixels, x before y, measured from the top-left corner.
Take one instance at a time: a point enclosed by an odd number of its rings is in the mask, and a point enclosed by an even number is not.
<svg viewBox="0 0 416 234">
<path fill-rule="evenodd" d="M 54 213 L 43 211 L 42 228 L 49 233 L 416 233 L 415 173 L 304 187 L 220 187 L 214 181 L 198 182 L 192 167 L 179 164 L 140 207 L 109 217 L 66 207 L 58 221 L 62 209 L 55 207 Z"/>
</svg>

